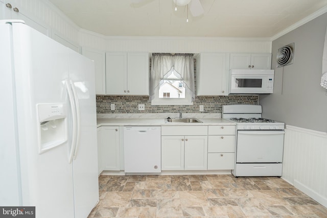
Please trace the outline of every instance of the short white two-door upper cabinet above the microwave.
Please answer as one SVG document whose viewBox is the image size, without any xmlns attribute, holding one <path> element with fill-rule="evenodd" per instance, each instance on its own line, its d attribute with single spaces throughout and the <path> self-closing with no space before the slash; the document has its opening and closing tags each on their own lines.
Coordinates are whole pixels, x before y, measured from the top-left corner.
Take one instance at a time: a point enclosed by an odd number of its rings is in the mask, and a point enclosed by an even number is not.
<svg viewBox="0 0 327 218">
<path fill-rule="evenodd" d="M 271 54 L 230 54 L 229 69 L 271 69 Z"/>
</svg>

